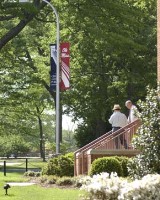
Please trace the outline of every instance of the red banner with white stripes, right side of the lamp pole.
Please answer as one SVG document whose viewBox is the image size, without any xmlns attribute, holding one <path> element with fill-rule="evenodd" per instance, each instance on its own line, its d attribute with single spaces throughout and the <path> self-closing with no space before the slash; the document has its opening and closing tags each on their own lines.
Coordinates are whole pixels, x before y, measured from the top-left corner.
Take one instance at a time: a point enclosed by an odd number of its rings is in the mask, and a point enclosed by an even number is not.
<svg viewBox="0 0 160 200">
<path fill-rule="evenodd" d="M 60 55 L 61 55 L 61 81 L 60 81 L 60 90 L 67 90 L 70 87 L 70 52 L 69 52 L 69 43 L 60 44 Z"/>
</svg>

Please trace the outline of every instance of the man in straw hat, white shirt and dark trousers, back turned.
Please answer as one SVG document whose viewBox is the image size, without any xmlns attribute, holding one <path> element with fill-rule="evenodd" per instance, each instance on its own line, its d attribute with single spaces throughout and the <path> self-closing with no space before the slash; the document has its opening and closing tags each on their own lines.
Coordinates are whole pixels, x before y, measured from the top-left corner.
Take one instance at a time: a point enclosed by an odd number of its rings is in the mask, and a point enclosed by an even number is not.
<svg viewBox="0 0 160 200">
<path fill-rule="evenodd" d="M 113 114 L 110 116 L 109 118 L 109 123 L 112 124 L 112 132 L 117 131 L 118 129 L 126 126 L 128 124 L 127 121 L 127 117 L 125 114 L 120 112 L 121 107 L 118 104 L 115 104 L 113 107 Z M 127 149 L 127 142 L 126 139 L 124 137 L 124 135 L 120 135 L 119 137 L 115 138 L 115 145 L 116 145 L 116 149 L 119 148 L 119 139 L 120 139 L 120 143 L 122 145 L 124 145 L 124 148 Z"/>
</svg>

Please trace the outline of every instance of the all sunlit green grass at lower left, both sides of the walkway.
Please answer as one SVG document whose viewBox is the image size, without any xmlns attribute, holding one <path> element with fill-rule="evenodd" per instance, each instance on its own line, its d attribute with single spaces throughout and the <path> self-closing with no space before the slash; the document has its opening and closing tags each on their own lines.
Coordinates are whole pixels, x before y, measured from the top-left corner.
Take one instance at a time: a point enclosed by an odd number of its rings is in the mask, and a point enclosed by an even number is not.
<svg viewBox="0 0 160 200">
<path fill-rule="evenodd" d="M 3 162 L 0 160 L 0 162 Z M 7 162 L 21 162 L 20 160 L 7 160 Z M 24 162 L 24 160 L 23 160 Z M 41 168 L 44 163 L 41 160 L 33 160 L 32 165 Z M 18 167 L 24 168 L 25 164 Z M 8 168 L 8 167 L 7 167 Z M 13 168 L 13 166 L 12 166 Z M 16 167 L 17 168 L 17 167 Z M 11 169 L 9 167 L 8 169 Z M 8 189 L 8 195 L 5 195 L 3 186 L 7 182 L 27 182 L 28 179 L 23 177 L 23 172 L 7 172 L 6 176 L 0 172 L 0 200 L 78 200 L 82 191 L 79 189 L 62 189 L 52 187 L 41 187 L 40 185 L 32 186 L 12 186 Z"/>
</svg>

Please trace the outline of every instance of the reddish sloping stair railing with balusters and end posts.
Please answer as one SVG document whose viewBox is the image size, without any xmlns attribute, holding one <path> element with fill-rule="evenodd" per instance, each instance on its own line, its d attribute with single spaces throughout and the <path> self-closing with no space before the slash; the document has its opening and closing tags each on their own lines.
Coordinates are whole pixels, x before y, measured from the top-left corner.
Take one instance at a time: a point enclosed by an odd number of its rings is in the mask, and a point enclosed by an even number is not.
<svg viewBox="0 0 160 200">
<path fill-rule="evenodd" d="M 84 174 L 86 173 L 88 169 L 88 164 L 91 161 L 87 161 L 87 152 L 90 149 L 115 149 L 115 140 L 117 137 L 121 137 L 122 134 L 127 135 L 127 149 L 128 145 L 131 144 L 131 138 L 133 134 L 135 134 L 137 128 L 140 125 L 140 120 L 136 120 L 128 125 L 126 125 L 123 128 L 120 128 L 119 130 L 112 132 L 109 131 L 108 133 L 105 133 L 101 137 L 95 139 L 94 141 L 90 142 L 89 144 L 86 144 L 82 148 L 78 149 L 77 151 L 74 152 L 74 174 L 79 175 L 79 174 Z M 119 141 L 119 140 L 118 140 Z M 117 148 L 120 150 L 123 148 L 123 146 L 117 146 Z M 133 147 L 129 147 L 132 149 Z M 78 167 L 78 168 L 77 168 Z M 80 171 L 79 171 L 80 170 Z"/>
</svg>

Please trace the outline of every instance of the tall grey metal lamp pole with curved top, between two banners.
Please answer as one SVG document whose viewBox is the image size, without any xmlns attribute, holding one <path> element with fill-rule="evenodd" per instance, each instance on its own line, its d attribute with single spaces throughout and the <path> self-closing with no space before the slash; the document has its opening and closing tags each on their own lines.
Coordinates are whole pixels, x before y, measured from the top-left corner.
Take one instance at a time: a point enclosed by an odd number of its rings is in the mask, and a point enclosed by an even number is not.
<svg viewBox="0 0 160 200">
<path fill-rule="evenodd" d="M 47 3 L 53 10 L 53 13 L 56 16 L 56 24 L 57 24 L 57 74 L 56 74 L 56 154 L 60 153 L 60 137 L 59 137 L 59 109 L 60 109 L 60 67 L 59 67 L 59 16 L 54 8 L 54 6 L 48 2 L 47 0 L 42 0 Z"/>
</svg>

